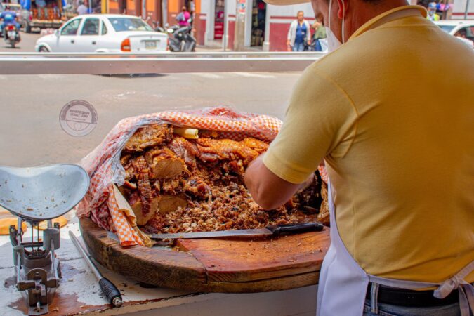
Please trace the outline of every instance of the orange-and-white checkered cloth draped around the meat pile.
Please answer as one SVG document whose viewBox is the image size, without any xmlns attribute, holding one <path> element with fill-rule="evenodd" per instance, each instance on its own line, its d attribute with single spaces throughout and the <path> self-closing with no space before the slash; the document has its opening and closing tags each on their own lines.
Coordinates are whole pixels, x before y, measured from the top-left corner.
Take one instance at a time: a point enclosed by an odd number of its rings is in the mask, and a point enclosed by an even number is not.
<svg viewBox="0 0 474 316">
<path fill-rule="evenodd" d="M 273 140 L 282 126 L 275 117 L 236 112 L 228 107 L 165 111 L 119 121 L 103 142 L 81 160 L 91 184 L 77 207 L 77 216 L 90 216 L 101 228 L 116 232 L 121 246 L 144 245 L 133 214 L 119 209 L 114 194 L 114 184 L 124 183 L 121 150 L 138 128 L 157 123 L 214 131 L 218 138 L 242 140 L 251 136 L 266 141 Z"/>
</svg>

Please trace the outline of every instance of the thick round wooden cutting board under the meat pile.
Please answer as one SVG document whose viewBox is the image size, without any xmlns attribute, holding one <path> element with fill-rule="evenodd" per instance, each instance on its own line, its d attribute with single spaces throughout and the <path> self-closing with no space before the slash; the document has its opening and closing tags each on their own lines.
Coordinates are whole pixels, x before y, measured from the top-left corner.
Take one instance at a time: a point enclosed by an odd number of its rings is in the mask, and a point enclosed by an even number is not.
<svg viewBox="0 0 474 316">
<path fill-rule="evenodd" d="M 179 239 L 176 249 L 121 247 L 89 218 L 81 232 L 91 256 L 140 282 L 189 291 L 245 293 L 316 284 L 329 228 L 276 239 Z"/>
</svg>

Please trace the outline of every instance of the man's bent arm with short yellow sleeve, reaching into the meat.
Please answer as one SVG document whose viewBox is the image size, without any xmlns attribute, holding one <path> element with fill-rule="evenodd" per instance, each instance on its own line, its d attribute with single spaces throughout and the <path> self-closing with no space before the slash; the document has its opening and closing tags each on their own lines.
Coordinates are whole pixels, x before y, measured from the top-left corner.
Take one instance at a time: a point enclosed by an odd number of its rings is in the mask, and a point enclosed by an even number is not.
<svg viewBox="0 0 474 316">
<path fill-rule="evenodd" d="M 312 180 L 328 154 L 341 157 L 344 150 L 333 149 L 348 138 L 357 119 L 341 89 L 313 71 L 314 67 L 308 67 L 298 80 L 277 137 L 245 172 L 246 187 L 263 209 L 287 202 Z"/>
</svg>

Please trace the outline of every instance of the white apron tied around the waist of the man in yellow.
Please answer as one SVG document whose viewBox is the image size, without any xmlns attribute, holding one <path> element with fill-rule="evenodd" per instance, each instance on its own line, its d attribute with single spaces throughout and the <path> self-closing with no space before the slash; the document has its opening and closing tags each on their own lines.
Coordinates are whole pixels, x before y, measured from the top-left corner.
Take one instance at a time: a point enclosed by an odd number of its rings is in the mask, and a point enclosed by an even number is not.
<svg viewBox="0 0 474 316">
<path fill-rule="evenodd" d="M 331 246 L 322 263 L 320 284 L 317 290 L 317 316 L 360 316 L 364 310 L 367 285 L 373 282 L 371 289 L 371 312 L 377 313 L 376 295 L 378 284 L 400 289 L 423 289 L 438 287 L 436 298 L 445 298 L 454 289 L 459 291 L 459 307 L 462 316 L 474 313 L 474 287 L 464 278 L 474 270 L 474 261 L 458 272 L 451 279 L 442 283 L 413 282 L 397 279 L 385 279 L 368 275 L 349 254 L 336 223 L 336 206 L 332 199 L 331 184 L 328 184 L 329 214 L 331 223 Z M 375 302 L 375 303 L 374 303 Z"/>
</svg>

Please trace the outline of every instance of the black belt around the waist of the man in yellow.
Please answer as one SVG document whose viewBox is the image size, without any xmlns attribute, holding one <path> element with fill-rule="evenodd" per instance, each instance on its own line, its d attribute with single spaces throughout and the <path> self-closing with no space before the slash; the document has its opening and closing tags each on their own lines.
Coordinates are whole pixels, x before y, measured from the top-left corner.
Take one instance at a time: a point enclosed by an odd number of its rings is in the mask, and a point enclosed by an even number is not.
<svg viewBox="0 0 474 316">
<path fill-rule="evenodd" d="M 367 287 L 365 298 L 370 300 L 371 283 Z M 445 306 L 459 302 L 458 291 L 454 290 L 445 298 L 435 298 L 433 291 L 412 291 L 395 287 L 378 287 L 378 303 L 404 306 L 404 307 L 430 307 Z"/>
</svg>

